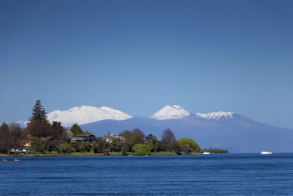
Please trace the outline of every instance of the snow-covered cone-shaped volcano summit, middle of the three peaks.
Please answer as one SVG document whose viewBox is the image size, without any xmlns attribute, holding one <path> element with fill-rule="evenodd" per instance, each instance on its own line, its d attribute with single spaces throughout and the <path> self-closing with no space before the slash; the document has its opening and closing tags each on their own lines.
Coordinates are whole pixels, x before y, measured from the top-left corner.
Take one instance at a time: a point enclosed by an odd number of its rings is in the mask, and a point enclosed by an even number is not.
<svg viewBox="0 0 293 196">
<path fill-rule="evenodd" d="M 181 119 L 185 116 L 189 116 L 190 113 L 180 106 L 165 106 L 160 111 L 153 114 L 150 119 L 166 120 L 166 119 Z"/>
</svg>

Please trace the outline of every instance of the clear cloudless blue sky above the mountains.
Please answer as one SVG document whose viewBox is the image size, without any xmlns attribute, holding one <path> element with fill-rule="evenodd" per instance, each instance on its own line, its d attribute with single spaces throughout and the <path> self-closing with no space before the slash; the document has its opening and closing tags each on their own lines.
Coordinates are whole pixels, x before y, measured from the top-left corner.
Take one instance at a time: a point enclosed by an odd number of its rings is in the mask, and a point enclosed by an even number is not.
<svg viewBox="0 0 293 196">
<path fill-rule="evenodd" d="M 293 129 L 293 1 L 0 1 L 0 121 L 107 106 Z"/>
</svg>

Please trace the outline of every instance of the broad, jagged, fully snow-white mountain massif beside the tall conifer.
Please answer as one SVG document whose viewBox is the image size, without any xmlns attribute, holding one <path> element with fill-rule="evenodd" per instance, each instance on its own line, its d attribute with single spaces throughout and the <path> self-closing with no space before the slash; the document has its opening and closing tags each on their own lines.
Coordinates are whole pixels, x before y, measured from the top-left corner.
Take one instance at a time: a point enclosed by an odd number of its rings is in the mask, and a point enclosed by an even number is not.
<svg viewBox="0 0 293 196">
<path fill-rule="evenodd" d="M 109 107 L 97 108 L 92 106 L 74 107 L 67 111 L 55 110 L 50 112 L 47 116 L 50 123 L 52 123 L 52 121 L 60 121 L 64 127 L 70 127 L 75 123 L 82 125 L 106 119 L 120 121 L 132 118 L 132 116 L 119 110 Z"/>
</svg>

